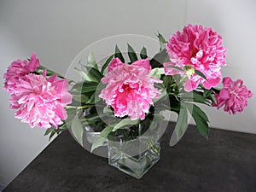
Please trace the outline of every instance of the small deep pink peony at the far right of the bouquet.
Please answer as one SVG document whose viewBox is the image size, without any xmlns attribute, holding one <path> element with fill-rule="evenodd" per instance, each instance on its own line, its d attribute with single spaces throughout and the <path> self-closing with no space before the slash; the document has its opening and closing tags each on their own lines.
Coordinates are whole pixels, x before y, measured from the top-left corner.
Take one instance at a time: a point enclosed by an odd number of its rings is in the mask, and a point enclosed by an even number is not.
<svg viewBox="0 0 256 192">
<path fill-rule="evenodd" d="M 223 79 L 224 88 L 219 94 L 215 94 L 216 103 L 212 106 L 221 108 L 224 106 L 224 111 L 236 114 L 242 112 L 247 107 L 247 98 L 252 97 L 253 93 L 247 90 L 241 79 L 232 81 L 229 77 Z"/>
</svg>

